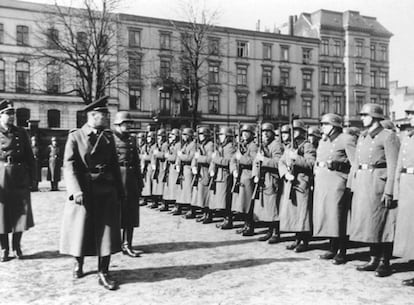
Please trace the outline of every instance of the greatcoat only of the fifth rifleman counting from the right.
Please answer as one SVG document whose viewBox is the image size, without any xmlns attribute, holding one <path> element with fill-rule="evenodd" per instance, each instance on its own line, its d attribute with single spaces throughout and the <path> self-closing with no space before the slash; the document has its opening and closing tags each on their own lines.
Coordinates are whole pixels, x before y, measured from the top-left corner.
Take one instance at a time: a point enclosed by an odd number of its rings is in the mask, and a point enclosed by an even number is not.
<svg viewBox="0 0 414 305">
<path fill-rule="evenodd" d="M 198 168 L 200 171 L 200 179 L 198 180 L 196 189 L 193 190 L 191 205 L 198 206 L 200 208 L 208 208 L 210 203 L 210 174 L 208 169 L 210 167 L 211 155 L 214 150 L 213 146 L 214 145 L 211 140 L 206 140 L 203 143 L 200 143 L 198 147 L 200 156 L 197 160 L 193 158 L 191 163 L 193 168 Z"/>
</svg>

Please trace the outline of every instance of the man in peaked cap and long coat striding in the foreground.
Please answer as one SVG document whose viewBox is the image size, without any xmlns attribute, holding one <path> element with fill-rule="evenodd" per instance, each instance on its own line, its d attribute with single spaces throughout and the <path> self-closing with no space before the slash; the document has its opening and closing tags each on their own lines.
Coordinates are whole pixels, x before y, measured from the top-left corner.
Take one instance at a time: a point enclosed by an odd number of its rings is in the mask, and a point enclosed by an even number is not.
<svg viewBox="0 0 414 305">
<path fill-rule="evenodd" d="M 84 108 L 87 122 L 69 132 L 64 154 L 67 201 L 60 252 L 75 257 L 73 276 L 83 276 L 84 256 L 98 256 L 99 284 L 117 283 L 108 275 L 111 254 L 121 250 L 120 204 L 124 192 L 114 137 L 107 125 L 108 97 Z"/>
</svg>

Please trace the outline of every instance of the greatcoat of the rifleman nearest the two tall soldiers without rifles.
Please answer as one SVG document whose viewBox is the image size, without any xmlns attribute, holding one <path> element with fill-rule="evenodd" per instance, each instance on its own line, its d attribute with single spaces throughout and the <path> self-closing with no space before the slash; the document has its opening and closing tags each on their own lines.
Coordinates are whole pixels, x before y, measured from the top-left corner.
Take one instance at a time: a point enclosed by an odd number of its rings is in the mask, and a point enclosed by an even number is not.
<svg viewBox="0 0 414 305">
<path fill-rule="evenodd" d="M 280 197 L 280 230 L 285 232 L 309 232 L 311 230 L 311 183 L 316 149 L 308 141 L 297 141 L 297 156 L 291 161 L 292 149 L 288 147 L 279 161 L 279 175 L 283 179 Z M 292 163 L 293 162 L 293 163 Z M 295 178 L 286 180 L 286 174 Z"/>
</svg>

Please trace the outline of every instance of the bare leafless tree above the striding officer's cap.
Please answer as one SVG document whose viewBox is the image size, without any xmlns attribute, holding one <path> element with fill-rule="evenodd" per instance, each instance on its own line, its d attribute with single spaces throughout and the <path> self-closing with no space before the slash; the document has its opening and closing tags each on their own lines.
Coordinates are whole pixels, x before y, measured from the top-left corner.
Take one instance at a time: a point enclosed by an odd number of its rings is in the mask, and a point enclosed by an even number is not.
<svg viewBox="0 0 414 305">
<path fill-rule="evenodd" d="M 46 21 L 38 22 L 45 42 L 38 52 L 49 63 L 69 68 L 72 73 L 60 73 L 72 82 L 64 93 L 75 92 L 85 104 L 106 95 L 127 72 L 118 65 L 119 27 L 117 14 L 113 13 L 118 3 L 83 0 L 82 8 L 55 3 L 45 13 Z"/>
</svg>

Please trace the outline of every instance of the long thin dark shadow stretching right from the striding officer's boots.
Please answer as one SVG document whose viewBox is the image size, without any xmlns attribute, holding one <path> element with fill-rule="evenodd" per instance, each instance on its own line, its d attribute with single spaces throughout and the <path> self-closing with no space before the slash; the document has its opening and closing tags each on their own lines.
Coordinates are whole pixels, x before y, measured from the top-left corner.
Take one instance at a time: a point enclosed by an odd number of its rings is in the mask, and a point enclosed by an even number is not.
<svg viewBox="0 0 414 305">
<path fill-rule="evenodd" d="M 264 258 L 264 259 L 244 259 L 238 261 L 228 261 L 217 264 L 185 265 L 185 266 L 168 266 L 160 268 L 142 268 L 142 269 L 123 269 L 113 270 L 111 275 L 119 279 L 120 284 L 137 283 L 137 282 L 158 282 L 176 278 L 186 278 L 190 280 L 200 279 L 210 273 L 217 271 L 226 271 L 240 268 L 250 268 L 260 265 L 280 263 L 280 262 L 297 262 L 306 261 L 308 258 Z"/>
</svg>

